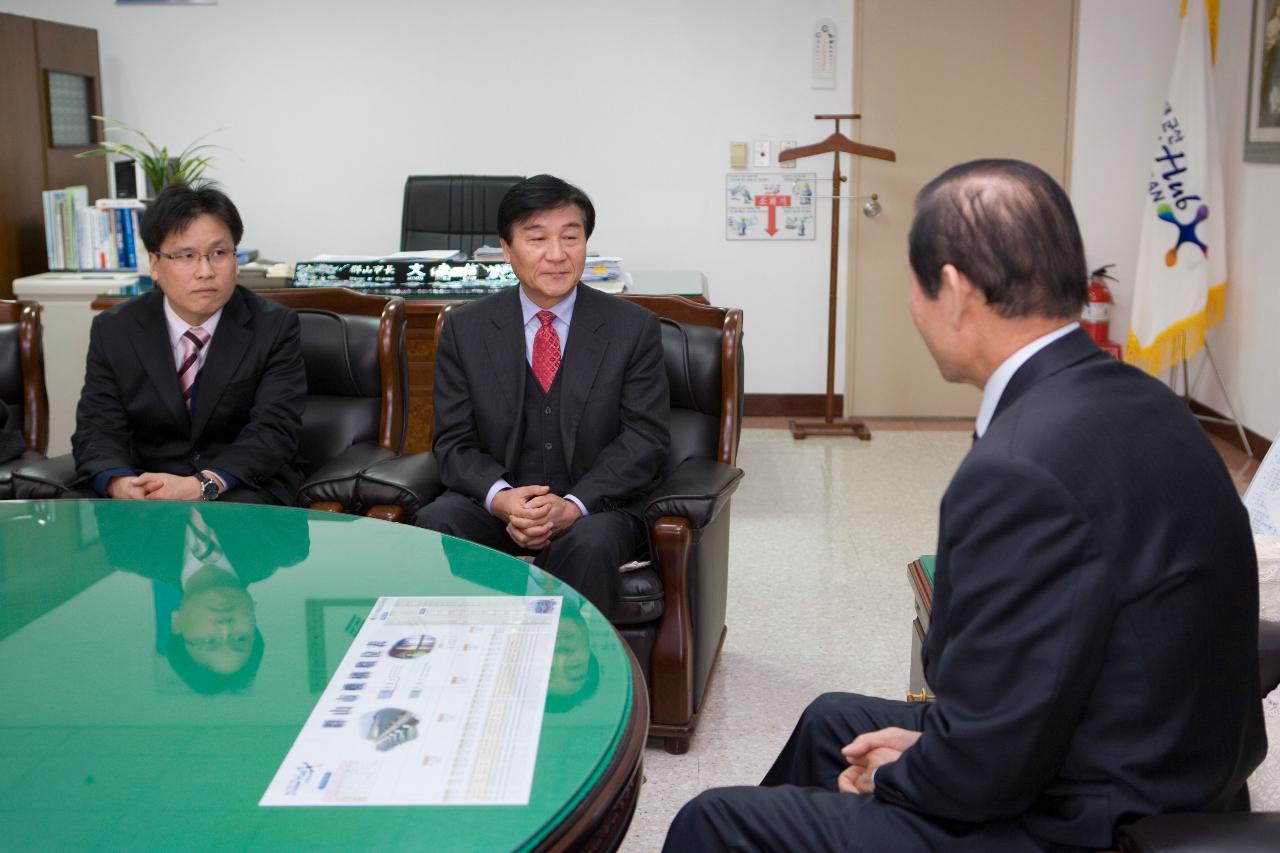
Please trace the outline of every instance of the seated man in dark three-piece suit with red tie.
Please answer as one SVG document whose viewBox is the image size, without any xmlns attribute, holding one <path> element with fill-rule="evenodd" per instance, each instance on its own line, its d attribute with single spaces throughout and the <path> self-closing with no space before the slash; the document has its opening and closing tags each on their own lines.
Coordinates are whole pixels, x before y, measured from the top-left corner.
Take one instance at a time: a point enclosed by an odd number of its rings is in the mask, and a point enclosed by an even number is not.
<svg viewBox="0 0 1280 853">
<path fill-rule="evenodd" d="M 608 615 L 669 443 L 658 318 L 579 282 L 590 199 L 552 175 L 498 206 L 518 287 L 451 311 L 435 350 L 445 488 L 413 519 L 535 564 Z"/>
</svg>

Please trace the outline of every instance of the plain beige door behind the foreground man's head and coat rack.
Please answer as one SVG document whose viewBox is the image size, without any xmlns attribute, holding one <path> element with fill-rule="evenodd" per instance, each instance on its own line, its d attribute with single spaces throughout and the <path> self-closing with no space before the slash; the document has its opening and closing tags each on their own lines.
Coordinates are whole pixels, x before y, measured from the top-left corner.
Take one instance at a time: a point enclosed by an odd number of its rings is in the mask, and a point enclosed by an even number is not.
<svg viewBox="0 0 1280 853">
<path fill-rule="evenodd" d="M 1069 164 L 1074 0 L 858 0 L 855 138 L 897 152 L 860 160 L 850 215 L 846 414 L 965 416 L 980 394 L 937 373 L 908 313 L 915 193 L 945 168 L 1019 158 L 1061 182 Z"/>
</svg>

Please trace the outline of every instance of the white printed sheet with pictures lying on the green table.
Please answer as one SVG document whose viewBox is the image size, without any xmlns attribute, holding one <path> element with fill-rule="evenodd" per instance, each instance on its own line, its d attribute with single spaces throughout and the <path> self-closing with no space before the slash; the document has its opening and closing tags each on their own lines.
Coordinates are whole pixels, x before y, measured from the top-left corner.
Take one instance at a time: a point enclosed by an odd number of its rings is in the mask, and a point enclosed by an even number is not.
<svg viewBox="0 0 1280 853">
<path fill-rule="evenodd" d="M 559 596 L 383 597 L 259 806 L 524 806 Z"/>
</svg>

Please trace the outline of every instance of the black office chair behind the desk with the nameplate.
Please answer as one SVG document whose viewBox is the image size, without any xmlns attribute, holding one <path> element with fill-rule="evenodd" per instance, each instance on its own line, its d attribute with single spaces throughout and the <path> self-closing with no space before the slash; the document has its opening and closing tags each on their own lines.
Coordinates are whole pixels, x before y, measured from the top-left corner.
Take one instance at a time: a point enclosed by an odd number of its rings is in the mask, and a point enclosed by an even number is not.
<svg viewBox="0 0 1280 853">
<path fill-rule="evenodd" d="M 401 251 L 498 246 L 498 202 L 520 175 L 416 174 L 404 181 Z"/>
</svg>

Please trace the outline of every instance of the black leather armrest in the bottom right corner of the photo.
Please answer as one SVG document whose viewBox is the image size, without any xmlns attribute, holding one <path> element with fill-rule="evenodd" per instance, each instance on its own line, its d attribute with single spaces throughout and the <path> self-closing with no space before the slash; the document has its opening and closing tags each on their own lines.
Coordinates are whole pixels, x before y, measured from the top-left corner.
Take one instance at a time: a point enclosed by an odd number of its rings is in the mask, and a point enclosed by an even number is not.
<svg viewBox="0 0 1280 853">
<path fill-rule="evenodd" d="M 1120 830 L 1129 853 L 1261 853 L 1276 849 L 1280 812 L 1157 815 Z"/>
</svg>

